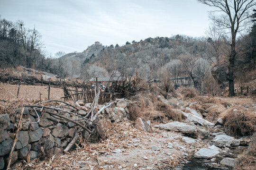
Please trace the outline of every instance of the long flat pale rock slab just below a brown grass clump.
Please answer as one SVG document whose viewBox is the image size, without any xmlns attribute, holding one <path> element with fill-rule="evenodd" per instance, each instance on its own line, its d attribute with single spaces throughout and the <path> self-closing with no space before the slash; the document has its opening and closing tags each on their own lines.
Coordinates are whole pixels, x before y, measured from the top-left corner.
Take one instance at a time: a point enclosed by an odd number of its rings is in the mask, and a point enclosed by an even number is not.
<svg viewBox="0 0 256 170">
<path fill-rule="evenodd" d="M 184 135 L 191 136 L 191 137 L 207 136 L 209 132 L 208 130 L 204 130 L 196 126 L 188 125 L 186 123 L 178 122 L 178 121 L 173 121 L 170 123 L 166 123 L 164 125 L 157 125 L 155 127 L 159 127 L 159 129 L 181 132 Z"/>
</svg>

